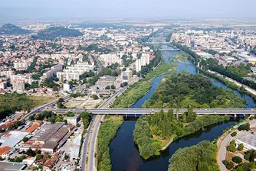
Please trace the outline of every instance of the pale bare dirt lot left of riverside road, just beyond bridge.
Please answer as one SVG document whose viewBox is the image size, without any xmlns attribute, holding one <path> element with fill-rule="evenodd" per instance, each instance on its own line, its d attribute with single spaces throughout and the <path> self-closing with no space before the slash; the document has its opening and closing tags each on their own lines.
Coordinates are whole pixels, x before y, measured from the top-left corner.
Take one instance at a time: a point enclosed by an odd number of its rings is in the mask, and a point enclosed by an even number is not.
<svg viewBox="0 0 256 171">
<path fill-rule="evenodd" d="M 102 102 L 102 99 L 94 100 L 94 98 L 88 97 L 78 97 L 78 98 L 71 98 L 64 105 L 67 108 L 94 108 L 97 104 Z"/>
</svg>

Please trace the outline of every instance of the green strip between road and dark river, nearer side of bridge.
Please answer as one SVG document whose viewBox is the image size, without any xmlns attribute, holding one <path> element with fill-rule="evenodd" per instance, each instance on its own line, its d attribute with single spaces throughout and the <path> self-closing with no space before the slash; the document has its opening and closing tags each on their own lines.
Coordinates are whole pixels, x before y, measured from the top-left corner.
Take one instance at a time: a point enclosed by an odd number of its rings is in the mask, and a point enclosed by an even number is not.
<svg viewBox="0 0 256 171">
<path fill-rule="evenodd" d="M 100 125 L 98 134 L 98 170 L 111 171 L 110 141 L 116 136 L 117 130 L 123 123 L 123 117 L 105 116 L 103 123 Z"/>
</svg>

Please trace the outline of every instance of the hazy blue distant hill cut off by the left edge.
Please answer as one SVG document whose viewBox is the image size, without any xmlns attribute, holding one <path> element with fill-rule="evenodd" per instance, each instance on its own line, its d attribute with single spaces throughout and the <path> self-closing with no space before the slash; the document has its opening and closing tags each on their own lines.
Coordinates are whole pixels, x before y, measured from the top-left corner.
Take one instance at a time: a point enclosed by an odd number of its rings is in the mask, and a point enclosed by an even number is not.
<svg viewBox="0 0 256 171">
<path fill-rule="evenodd" d="M 0 27 L 0 34 L 29 34 L 31 31 L 17 27 L 14 24 L 4 24 Z"/>
</svg>

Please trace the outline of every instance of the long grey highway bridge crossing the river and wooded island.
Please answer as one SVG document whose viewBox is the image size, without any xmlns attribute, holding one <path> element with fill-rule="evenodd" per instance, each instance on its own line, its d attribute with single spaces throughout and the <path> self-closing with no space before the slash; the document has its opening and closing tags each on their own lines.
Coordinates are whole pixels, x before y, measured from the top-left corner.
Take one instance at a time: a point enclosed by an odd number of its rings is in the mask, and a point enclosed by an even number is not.
<svg viewBox="0 0 256 171">
<path fill-rule="evenodd" d="M 69 109 L 54 109 L 56 113 L 64 113 L 67 111 L 81 112 L 88 111 L 94 115 L 149 115 L 155 114 L 158 111 L 169 111 L 169 108 L 69 108 Z M 177 109 L 172 109 L 176 113 Z M 179 114 L 188 111 L 187 108 L 179 108 Z M 194 108 L 193 111 L 197 115 L 256 115 L 254 108 Z"/>
</svg>

